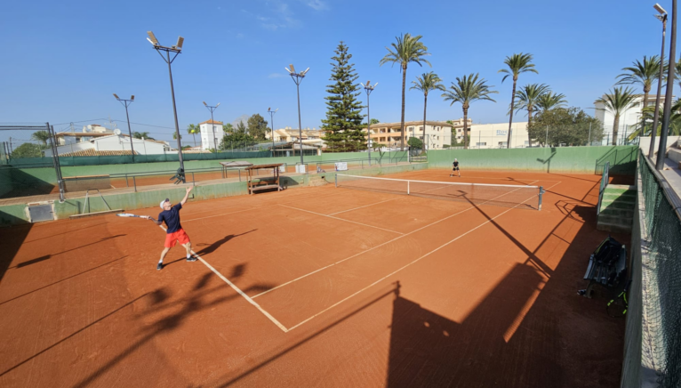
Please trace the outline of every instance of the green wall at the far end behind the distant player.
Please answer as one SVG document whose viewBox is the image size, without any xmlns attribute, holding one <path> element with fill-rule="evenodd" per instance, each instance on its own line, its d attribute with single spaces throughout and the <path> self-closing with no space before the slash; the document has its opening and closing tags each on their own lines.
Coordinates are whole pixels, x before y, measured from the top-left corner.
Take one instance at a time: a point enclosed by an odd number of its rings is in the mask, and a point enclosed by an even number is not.
<svg viewBox="0 0 681 388">
<path fill-rule="evenodd" d="M 507 170 L 542 173 L 601 174 L 610 162 L 610 174 L 635 174 L 637 146 L 557 147 L 501 150 L 430 150 L 431 168 L 451 168 L 454 158 L 461 170 Z"/>
</svg>

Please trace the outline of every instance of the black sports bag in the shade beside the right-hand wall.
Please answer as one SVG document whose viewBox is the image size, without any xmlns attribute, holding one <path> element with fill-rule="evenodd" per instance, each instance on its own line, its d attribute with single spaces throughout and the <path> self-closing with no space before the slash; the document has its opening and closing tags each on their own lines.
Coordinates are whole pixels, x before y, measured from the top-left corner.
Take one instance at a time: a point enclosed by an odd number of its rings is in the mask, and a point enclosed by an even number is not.
<svg viewBox="0 0 681 388">
<path fill-rule="evenodd" d="M 589 257 L 589 265 L 584 274 L 584 280 L 589 280 L 589 286 L 580 290 L 579 294 L 590 298 L 593 287 L 597 284 L 610 289 L 618 287 L 626 277 L 626 270 L 627 247 L 614 238 L 605 238 Z"/>
</svg>

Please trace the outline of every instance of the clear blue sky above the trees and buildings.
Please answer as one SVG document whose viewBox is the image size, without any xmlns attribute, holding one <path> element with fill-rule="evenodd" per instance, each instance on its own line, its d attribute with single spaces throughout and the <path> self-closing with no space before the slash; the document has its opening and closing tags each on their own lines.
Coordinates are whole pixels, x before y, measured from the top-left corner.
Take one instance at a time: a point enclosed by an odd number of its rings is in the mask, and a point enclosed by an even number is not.
<svg viewBox="0 0 681 388">
<path fill-rule="evenodd" d="M 479 73 L 498 91 L 496 103 L 471 105 L 474 123 L 508 122 L 512 82 L 501 82 L 503 61 L 532 53 L 539 74 L 523 74 L 518 85 L 543 83 L 564 93 L 570 106 L 586 109 L 606 93 L 621 69 L 644 55 L 659 55 L 661 22 L 654 0 L 547 2 L 508 0 L 356 1 L 127 1 L 38 0 L 8 2 L 0 12 L 4 36 L 0 55 L 0 125 L 50 122 L 57 131 L 70 123 L 109 125 L 124 131 L 125 109 L 112 93 L 135 95 L 132 131 L 172 139 L 174 128 L 168 67 L 146 40 L 147 31 L 164 45 L 184 36 L 172 63 L 180 133 L 216 120 L 279 109 L 276 128 L 298 128 L 296 86 L 284 70 L 310 68 L 300 84 L 303 128 L 319 128 L 340 41 L 349 46 L 359 76 L 379 85 L 371 94 L 371 114 L 381 122 L 400 120 L 399 67 L 380 66 L 386 46 L 403 33 L 421 35 L 432 64 L 411 63 L 406 71 L 405 119 L 423 118 L 423 94 L 411 82 L 434 71 L 449 86 L 456 77 Z M 671 2 L 661 0 L 671 12 Z M 669 53 L 669 30 L 668 30 Z M 429 120 L 462 117 L 431 93 Z M 366 95 L 359 97 L 365 102 Z M 587 113 L 593 114 L 592 109 Z M 517 121 L 525 121 L 520 114 Z M 0 133 L 6 141 L 12 133 Z M 185 137 L 185 140 L 187 137 Z"/>
</svg>

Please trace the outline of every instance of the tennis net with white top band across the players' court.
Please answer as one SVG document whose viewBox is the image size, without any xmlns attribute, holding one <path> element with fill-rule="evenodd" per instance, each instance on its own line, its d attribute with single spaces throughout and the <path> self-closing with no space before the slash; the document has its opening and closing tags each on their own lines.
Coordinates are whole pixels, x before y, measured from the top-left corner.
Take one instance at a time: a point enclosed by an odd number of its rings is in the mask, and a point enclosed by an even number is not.
<svg viewBox="0 0 681 388">
<path fill-rule="evenodd" d="M 541 209 L 539 186 L 483 184 L 461 182 L 430 182 L 406 179 L 378 178 L 336 174 L 336 187 L 411 195 L 416 197 L 468 202 L 472 205 L 493 205 Z"/>
</svg>

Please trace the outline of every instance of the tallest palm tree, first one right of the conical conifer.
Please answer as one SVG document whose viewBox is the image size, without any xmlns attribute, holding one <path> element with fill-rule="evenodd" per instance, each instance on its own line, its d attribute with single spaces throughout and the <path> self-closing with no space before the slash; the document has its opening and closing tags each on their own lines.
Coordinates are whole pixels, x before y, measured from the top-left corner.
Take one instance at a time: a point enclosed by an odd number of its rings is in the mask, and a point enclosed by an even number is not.
<svg viewBox="0 0 681 388">
<path fill-rule="evenodd" d="M 428 63 L 430 67 L 433 65 L 429 61 L 423 58 L 428 53 L 428 47 L 423 45 L 421 41 L 421 35 L 412 36 L 409 33 L 403 34 L 401 36 L 396 36 L 397 43 L 392 45 L 392 50 L 386 47 L 388 53 L 379 62 L 381 66 L 386 63 L 392 63 L 393 66 L 398 63 L 400 65 L 400 71 L 402 71 L 402 121 L 401 123 L 401 133 L 400 133 L 400 144 L 402 150 L 405 150 L 405 88 L 406 88 L 406 68 L 409 62 L 414 62 L 419 66 L 423 66 L 421 62 Z M 425 128 L 424 128 L 425 129 Z"/>
</svg>

